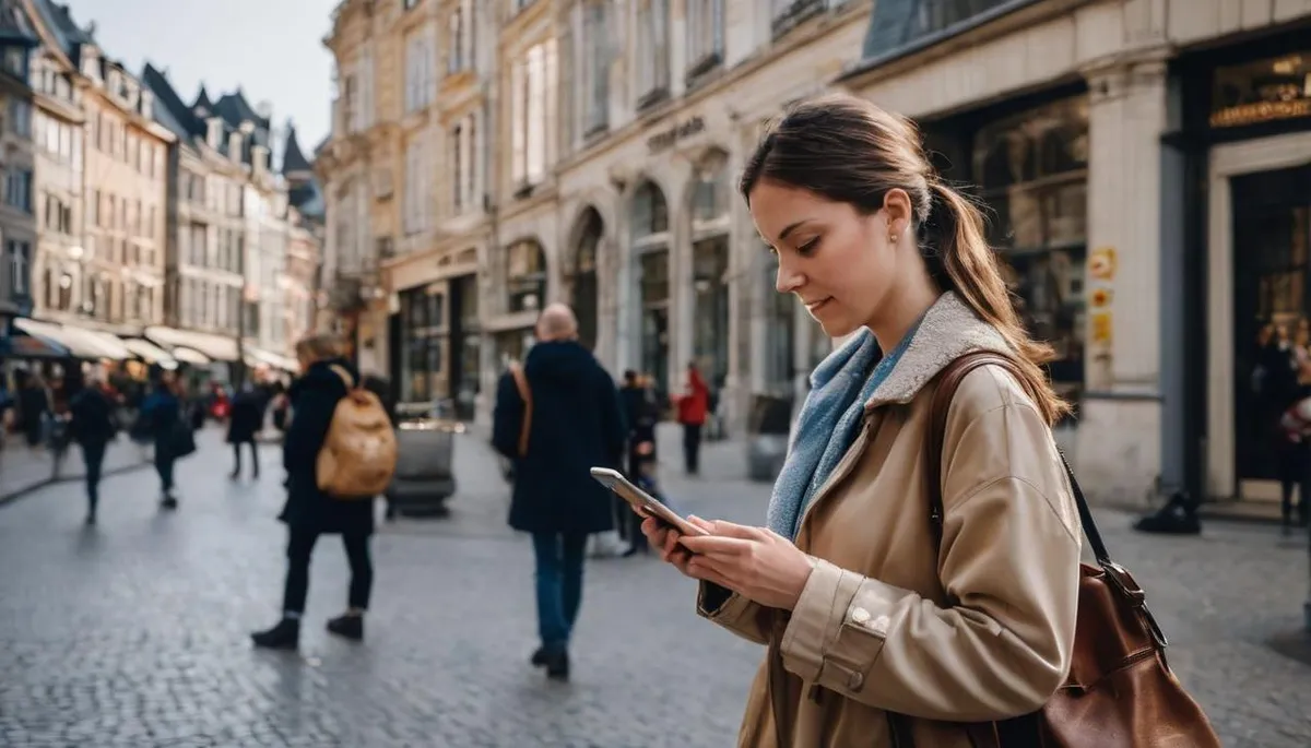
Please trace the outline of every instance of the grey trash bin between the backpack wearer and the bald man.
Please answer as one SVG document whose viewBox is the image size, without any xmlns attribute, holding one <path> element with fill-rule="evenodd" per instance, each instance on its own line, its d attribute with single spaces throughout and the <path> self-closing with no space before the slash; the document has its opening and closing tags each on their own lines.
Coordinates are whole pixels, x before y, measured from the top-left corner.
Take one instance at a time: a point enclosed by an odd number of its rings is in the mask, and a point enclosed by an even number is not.
<svg viewBox="0 0 1311 748">
<path fill-rule="evenodd" d="M 399 515 L 446 515 L 455 494 L 455 436 L 464 424 L 439 417 L 437 403 L 406 403 L 396 411 L 396 474 L 387 500 Z"/>
</svg>

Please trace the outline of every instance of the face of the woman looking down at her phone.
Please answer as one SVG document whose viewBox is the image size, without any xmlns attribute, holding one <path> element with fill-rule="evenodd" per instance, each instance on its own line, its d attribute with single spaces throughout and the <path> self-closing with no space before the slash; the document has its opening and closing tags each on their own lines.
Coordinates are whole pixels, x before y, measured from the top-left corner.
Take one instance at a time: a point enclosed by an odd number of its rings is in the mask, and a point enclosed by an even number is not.
<svg viewBox="0 0 1311 748">
<path fill-rule="evenodd" d="M 751 190 L 751 219 L 779 255 L 780 293 L 796 293 L 825 334 L 840 338 L 873 320 L 897 276 L 890 236 L 905 231 L 910 202 L 861 215 L 809 190 L 762 179 Z"/>
</svg>

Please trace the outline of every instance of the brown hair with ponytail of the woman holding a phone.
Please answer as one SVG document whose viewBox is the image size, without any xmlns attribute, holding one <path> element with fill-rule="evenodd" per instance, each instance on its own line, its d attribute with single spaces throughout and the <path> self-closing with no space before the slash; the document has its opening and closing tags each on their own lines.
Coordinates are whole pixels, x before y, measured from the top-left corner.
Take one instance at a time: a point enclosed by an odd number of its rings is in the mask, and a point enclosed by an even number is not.
<svg viewBox="0 0 1311 748">
<path fill-rule="evenodd" d="M 909 119 L 850 94 L 827 94 L 791 107 L 771 123 L 742 172 L 739 191 L 750 203 L 762 179 L 847 203 L 863 215 L 882 210 L 889 190 L 912 204 L 912 225 L 939 288 L 954 291 L 996 327 L 1028 381 L 1047 423 L 1070 410 L 1047 383 L 1042 364 L 1055 355 L 1029 337 L 983 233 L 983 214 L 933 170 Z"/>
</svg>

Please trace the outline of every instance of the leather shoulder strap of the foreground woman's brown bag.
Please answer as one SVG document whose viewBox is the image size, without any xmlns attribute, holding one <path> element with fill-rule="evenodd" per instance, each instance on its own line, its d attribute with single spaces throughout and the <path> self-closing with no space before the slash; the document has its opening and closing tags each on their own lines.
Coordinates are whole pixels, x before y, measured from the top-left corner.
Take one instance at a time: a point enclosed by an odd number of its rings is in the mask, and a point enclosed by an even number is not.
<svg viewBox="0 0 1311 748">
<path fill-rule="evenodd" d="M 941 546 L 943 545 L 943 443 L 947 438 L 947 415 L 948 410 L 952 407 L 952 398 L 956 396 L 957 388 L 960 388 L 961 381 L 971 371 L 986 367 L 996 365 L 1011 372 L 1012 376 L 1028 389 L 1025 384 L 1025 377 L 1020 372 L 1020 367 L 1008 356 L 996 354 L 992 351 L 975 351 L 971 354 L 965 354 L 964 356 L 956 359 L 954 362 L 947 364 L 937 375 L 937 388 L 933 390 L 933 401 L 929 406 L 929 431 L 928 431 L 928 453 L 926 455 L 927 466 L 926 474 L 928 477 L 928 502 L 929 502 L 929 523 L 933 529 L 933 541 Z M 1034 393 L 1029 393 L 1030 397 Z M 1097 529 L 1097 523 L 1092 519 L 1092 511 L 1088 508 L 1088 500 L 1083 495 L 1083 489 L 1079 487 L 1079 481 L 1074 477 L 1074 470 L 1070 469 L 1070 462 L 1066 456 L 1059 449 L 1057 453 L 1061 456 L 1061 465 L 1066 470 L 1066 477 L 1070 479 L 1070 490 L 1074 493 L 1075 504 L 1079 507 L 1079 524 L 1083 525 L 1083 534 L 1088 538 L 1088 545 L 1092 548 L 1093 555 L 1096 555 L 1097 562 L 1103 566 L 1110 563 L 1110 553 L 1106 550 L 1106 544 L 1101 540 L 1101 532 Z"/>
</svg>

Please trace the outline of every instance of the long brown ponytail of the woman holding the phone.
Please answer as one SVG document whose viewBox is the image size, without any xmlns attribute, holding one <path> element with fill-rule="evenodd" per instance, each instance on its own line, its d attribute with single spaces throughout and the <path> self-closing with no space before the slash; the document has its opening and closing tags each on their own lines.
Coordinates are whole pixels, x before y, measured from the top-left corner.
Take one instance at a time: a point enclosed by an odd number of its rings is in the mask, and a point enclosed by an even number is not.
<svg viewBox="0 0 1311 748">
<path fill-rule="evenodd" d="M 983 214 L 965 195 L 939 179 L 929 181 L 932 206 L 924 221 L 929 271 L 941 288 L 954 291 L 1017 354 L 1028 381 L 1020 383 L 1049 426 L 1070 413 L 1070 403 L 1051 389 L 1042 365 L 1055 359 L 1051 346 L 1034 341 L 1015 312 L 996 255 L 983 234 Z"/>
</svg>

